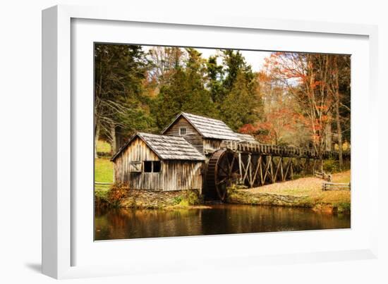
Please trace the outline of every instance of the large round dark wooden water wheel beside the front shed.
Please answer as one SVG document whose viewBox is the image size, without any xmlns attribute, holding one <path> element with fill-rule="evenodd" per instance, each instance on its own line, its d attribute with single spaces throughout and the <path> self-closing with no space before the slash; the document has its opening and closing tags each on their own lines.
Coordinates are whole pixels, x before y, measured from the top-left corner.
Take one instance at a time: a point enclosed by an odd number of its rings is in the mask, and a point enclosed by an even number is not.
<svg viewBox="0 0 388 284">
<path fill-rule="evenodd" d="M 238 158 L 234 152 L 219 149 L 210 156 L 205 175 L 205 198 L 226 199 L 226 187 L 237 183 Z"/>
</svg>

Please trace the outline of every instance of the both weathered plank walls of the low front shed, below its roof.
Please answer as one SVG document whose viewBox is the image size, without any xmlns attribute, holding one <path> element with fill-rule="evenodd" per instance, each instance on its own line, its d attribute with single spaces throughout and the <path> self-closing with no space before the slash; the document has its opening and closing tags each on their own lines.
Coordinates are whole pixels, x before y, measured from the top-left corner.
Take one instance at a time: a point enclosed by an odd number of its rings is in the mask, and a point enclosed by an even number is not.
<svg viewBox="0 0 388 284">
<path fill-rule="evenodd" d="M 141 161 L 141 172 L 131 172 L 131 162 Z M 164 160 L 159 173 L 144 173 L 143 161 L 160 161 L 139 137 L 114 161 L 115 182 L 135 190 L 202 190 L 203 161 Z"/>
</svg>

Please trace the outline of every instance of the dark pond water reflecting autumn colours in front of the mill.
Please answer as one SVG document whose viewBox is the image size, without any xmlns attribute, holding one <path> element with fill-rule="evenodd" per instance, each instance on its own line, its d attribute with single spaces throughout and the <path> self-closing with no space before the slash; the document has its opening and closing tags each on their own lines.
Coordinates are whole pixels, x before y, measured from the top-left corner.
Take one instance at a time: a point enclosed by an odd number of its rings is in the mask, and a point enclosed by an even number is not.
<svg viewBox="0 0 388 284">
<path fill-rule="evenodd" d="M 203 209 L 96 209 L 95 240 L 350 228 L 350 215 L 281 206 L 219 204 Z"/>
</svg>

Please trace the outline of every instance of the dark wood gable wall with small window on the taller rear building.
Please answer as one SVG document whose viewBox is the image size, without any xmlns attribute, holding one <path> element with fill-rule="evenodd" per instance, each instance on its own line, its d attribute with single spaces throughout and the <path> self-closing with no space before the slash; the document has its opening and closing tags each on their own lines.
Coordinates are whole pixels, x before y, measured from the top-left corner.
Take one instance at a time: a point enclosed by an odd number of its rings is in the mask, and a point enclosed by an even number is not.
<svg viewBox="0 0 388 284">
<path fill-rule="evenodd" d="M 179 128 L 186 128 L 186 135 L 182 136 L 187 142 L 192 144 L 201 154 L 203 154 L 202 135 L 191 125 L 186 118 L 179 118 L 173 125 L 170 126 L 163 135 L 180 136 Z"/>
</svg>

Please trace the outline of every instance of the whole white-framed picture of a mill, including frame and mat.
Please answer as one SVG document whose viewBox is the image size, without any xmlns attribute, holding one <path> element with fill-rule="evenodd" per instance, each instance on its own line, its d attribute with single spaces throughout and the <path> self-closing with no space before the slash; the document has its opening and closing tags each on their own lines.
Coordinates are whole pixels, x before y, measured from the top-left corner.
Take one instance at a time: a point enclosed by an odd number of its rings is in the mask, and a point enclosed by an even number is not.
<svg viewBox="0 0 388 284">
<path fill-rule="evenodd" d="M 375 257 L 376 27 L 42 17 L 45 274 Z"/>
</svg>

